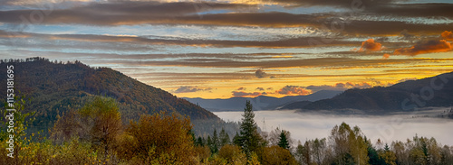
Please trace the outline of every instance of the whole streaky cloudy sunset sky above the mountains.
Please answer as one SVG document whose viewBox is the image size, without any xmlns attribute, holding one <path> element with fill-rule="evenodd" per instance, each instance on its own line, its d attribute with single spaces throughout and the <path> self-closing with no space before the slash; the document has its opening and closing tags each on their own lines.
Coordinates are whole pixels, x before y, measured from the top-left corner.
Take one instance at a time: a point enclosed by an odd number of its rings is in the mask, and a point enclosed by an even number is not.
<svg viewBox="0 0 453 165">
<path fill-rule="evenodd" d="M 110 67 L 176 96 L 295 96 L 453 71 L 449 0 L 4 0 L 0 57 Z"/>
</svg>

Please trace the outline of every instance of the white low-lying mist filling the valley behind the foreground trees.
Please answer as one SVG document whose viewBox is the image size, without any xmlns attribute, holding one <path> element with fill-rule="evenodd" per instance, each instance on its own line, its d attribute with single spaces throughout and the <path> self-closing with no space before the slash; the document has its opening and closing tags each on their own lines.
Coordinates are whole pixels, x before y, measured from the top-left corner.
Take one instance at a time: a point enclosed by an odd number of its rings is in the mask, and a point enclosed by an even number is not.
<svg viewBox="0 0 453 165">
<path fill-rule="evenodd" d="M 435 116 L 447 108 L 423 111 L 417 113 L 395 115 L 321 115 L 310 113 L 295 113 L 294 110 L 284 111 L 255 111 L 255 122 L 265 132 L 276 127 L 291 132 L 294 140 L 311 140 L 327 138 L 334 125 L 345 122 L 361 128 L 367 138 L 375 143 L 378 139 L 383 142 L 406 142 L 418 134 L 424 137 L 434 137 L 441 144 L 453 145 L 453 119 L 427 117 Z M 238 122 L 243 112 L 214 112 L 225 121 Z"/>
</svg>

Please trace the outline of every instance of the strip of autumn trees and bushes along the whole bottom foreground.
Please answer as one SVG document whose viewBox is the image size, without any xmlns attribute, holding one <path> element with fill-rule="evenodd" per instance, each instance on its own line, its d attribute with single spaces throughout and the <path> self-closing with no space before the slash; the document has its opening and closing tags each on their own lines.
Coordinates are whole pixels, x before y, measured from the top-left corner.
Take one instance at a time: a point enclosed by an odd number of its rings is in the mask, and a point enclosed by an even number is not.
<svg viewBox="0 0 453 165">
<path fill-rule="evenodd" d="M 259 133 L 247 102 L 240 131 L 224 129 L 196 137 L 188 117 L 159 113 L 121 122 L 118 103 L 94 97 L 82 108 L 59 116 L 50 138 L 26 134 L 24 100 L 15 105 L 14 159 L 7 157 L 8 133 L 0 133 L 0 164 L 452 164 L 453 148 L 434 138 L 371 142 L 359 127 L 340 124 L 328 139 L 295 145 L 291 133 Z M 6 115 L 5 110 L 3 111 Z M 26 122 L 25 122 L 26 121 Z"/>
</svg>

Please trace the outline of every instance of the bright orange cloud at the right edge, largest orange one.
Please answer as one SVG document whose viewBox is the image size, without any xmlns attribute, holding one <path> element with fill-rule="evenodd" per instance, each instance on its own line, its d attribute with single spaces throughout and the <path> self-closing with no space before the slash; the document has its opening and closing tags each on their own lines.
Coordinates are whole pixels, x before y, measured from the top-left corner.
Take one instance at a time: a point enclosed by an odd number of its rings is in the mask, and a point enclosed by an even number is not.
<svg viewBox="0 0 453 165">
<path fill-rule="evenodd" d="M 431 53 L 431 52 L 446 52 L 452 50 L 451 43 L 445 40 L 440 41 L 423 41 L 415 44 L 410 48 L 400 48 L 395 50 L 395 55 L 410 55 Z"/>
</svg>

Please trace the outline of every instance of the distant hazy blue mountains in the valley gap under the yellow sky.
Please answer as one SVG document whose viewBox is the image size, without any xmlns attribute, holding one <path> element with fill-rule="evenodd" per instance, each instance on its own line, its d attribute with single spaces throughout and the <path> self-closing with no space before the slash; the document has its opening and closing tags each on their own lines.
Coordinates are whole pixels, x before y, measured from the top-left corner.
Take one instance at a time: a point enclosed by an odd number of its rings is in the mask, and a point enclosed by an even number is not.
<svg viewBox="0 0 453 165">
<path fill-rule="evenodd" d="M 297 101 L 317 101 L 325 98 L 332 98 L 342 91 L 321 90 L 312 95 L 307 96 L 284 96 L 281 98 L 273 96 L 256 96 L 248 97 L 232 97 L 227 99 L 204 99 L 204 98 L 186 98 L 189 102 L 200 105 L 209 111 L 244 111 L 246 100 L 250 100 L 255 110 L 274 110 L 281 106 L 294 103 Z"/>
</svg>

